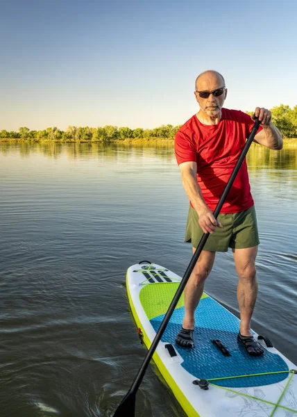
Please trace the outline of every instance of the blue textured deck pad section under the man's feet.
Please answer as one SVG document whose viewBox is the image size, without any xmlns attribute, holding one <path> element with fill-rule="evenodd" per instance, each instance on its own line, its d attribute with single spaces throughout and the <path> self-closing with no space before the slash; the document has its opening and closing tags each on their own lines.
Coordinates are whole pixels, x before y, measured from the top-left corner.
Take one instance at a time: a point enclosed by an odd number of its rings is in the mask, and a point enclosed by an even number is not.
<svg viewBox="0 0 297 417">
<path fill-rule="evenodd" d="M 184 361 L 181 364 L 187 372 L 199 379 L 251 375 L 289 370 L 287 363 L 278 354 L 268 350 L 261 357 L 251 357 L 242 343 L 237 341 L 239 320 L 211 297 L 203 298 L 195 312 L 194 349 L 176 344 L 176 335 L 183 322 L 185 307 L 176 309 L 162 336 L 162 342 L 172 343 Z M 164 318 L 151 319 L 151 325 L 158 332 Z M 212 343 L 219 339 L 232 356 L 224 357 L 219 348 Z M 269 385 L 287 378 L 288 373 L 241 377 L 212 381 L 213 384 L 230 388 Z"/>
</svg>

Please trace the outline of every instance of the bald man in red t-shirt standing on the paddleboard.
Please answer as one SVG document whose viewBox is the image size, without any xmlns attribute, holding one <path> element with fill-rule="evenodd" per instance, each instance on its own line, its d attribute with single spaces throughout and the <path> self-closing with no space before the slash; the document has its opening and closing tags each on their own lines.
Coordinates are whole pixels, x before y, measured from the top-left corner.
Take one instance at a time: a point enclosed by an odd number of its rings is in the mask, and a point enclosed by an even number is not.
<svg viewBox="0 0 297 417">
<path fill-rule="evenodd" d="M 194 312 L 203 293 L 204 283 L 212 270 L 215 253 L 232 248 L 239 277 L 237 299 L 240 327 L 237 339 L 248 354 L 264 352 L 251 333 L 251 318 L 257 298 L 255 259 L 259 245 L 257 219 L 246 161 L 241 165 L 218 219 L 212 214 L 230 174 L 248 138 L 255 117 L 261 124 L 255 142 L 269 149 L 282 149 L 282 135 L 271 123 L 271 112 L 255 108 L 255 115 L 223 108 L 227 88 L 223 76 L 206 71 L 196 79 L 194 95 L 200 106 L 176 133 L 176 159 L 183 187 L 190 200 L 186 242 L 195 252 L 203 233 L 210 232 L 185 287 L 185 317 L 176 343 L 194 347 Z"/>
</svg>

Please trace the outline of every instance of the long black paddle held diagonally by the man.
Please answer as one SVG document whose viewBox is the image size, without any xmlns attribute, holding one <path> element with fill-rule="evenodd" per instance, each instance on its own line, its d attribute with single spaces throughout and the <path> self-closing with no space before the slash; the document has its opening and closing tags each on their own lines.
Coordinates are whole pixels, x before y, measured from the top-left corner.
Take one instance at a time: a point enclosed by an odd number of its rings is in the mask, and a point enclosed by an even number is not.
<svg viewBox="0 0 297 417">
<path fill-rule="evenodd" d="M 251 143 L 253 142 L 253 139 L 255 138 L 255 134 L 257 133 L 257 130 L 259 129 L 260 122 L 259 120 L 255 120 L 255 124 L 253 126 L 253 130 L 251 131 L 251 135 L 248 137 L 248 140 L 246 141 L 246 145 L 244 145 L 244 149 L 242 149 L 241 154 L 239 156 L 239 159 L 234 167 L 234 170 L 232 171 L 232 174 L 230 176 L 230 179 L 228 183 L 226 184 L 225 190 L 223 190 L 223 195 L 219 199 L 219 203 L 217 204 L 217 207 L 214 210 L 214 218 L 217 219 L 219 212 L 221 211 L 221 208 L 223 206 L 223 203 L 225 202 L 225 199 L 230 191 L 230 188 L 232 187 L 232 183 L 235 180 L 235 177 L 237 176 L 239 169 L 241 167 L 241 164 L 244 161 L 244 158 L 246 157 L 246 154 L 248 152 L 249 147 L 251 146 Z M 189 263 L 189 266 L 187 267 L 187 270 L 185 272 L 185 275 L 183 276 L 183 279 L 180 281 L 180 285 L 178 286 L 178 289 L 176 291 L 176 294 L 173 297 L 173 300 L 171 301 L 171 304 L 169 306 L 169 309 L 167 313 L 165 314 L 162 323 L 158 329 L 157 334 L 155 335 L 155 338 L 153 339 L 153 343 L 151 344 L 151 347 L 149 348 L 146 357 L 144 358 L 144 361 L 142 362 L 142 366 L 139 368 L 139 371 L 134 379 L 133 384 L 130 387 L 130 390 L 124 397 L 124 399 L 121 401 L 121 404 L 119 404 L 119 407 L 117 407 L 117 410 L 114 413 L 113 417 L 134 417 L 135 416 L 135 400 L 136 400 L 136 393 L 139 388 L 139 385 L 142 382 L 142 379 L 144 377 L 144 373 L 146 372 L 146 368 L 148 367 L 148 363 L 150 363 L 153 353 L 155 352 L 155 349 L 160 342 L 162 338 L 162 334 L 164 333 L 167 324 L 172 316 L 172 313 L 174 309 L 176 308 L 176 304 L 178 304 L 178 300 L 180 299 L 180 295 L 182 295 L 185 286 L 187 284 L 187 281 L 189 280 L 189 276 L 192 274 L 192 270 L 194 269 L 194 266 L 196 265 L 196 262 L 198 260 L 198 257 L 200 256 L 203 247 L 206 243 L 206 240 L 210 236 L 209 233 L 203 234 L 200 243 L 198 244 L 198 247 L 196 248 L 196 251 Z"/>
</svg>

